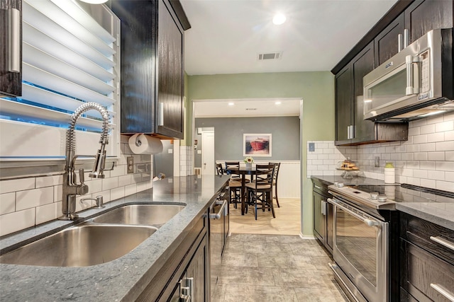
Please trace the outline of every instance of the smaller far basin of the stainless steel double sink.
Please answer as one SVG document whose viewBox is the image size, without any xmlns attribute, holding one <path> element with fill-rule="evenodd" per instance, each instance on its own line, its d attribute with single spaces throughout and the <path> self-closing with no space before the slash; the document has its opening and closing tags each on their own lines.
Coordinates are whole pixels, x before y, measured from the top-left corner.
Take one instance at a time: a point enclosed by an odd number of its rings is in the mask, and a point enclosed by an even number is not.
<svg viewBox="0 0 454 302">
<path fill-rule="evenodd" d="M 96 223 L 122 223 L 160 227 L 182 211 L 184 206 L 174 204 L 133 204 L 101 214 Z"/>
</svg>

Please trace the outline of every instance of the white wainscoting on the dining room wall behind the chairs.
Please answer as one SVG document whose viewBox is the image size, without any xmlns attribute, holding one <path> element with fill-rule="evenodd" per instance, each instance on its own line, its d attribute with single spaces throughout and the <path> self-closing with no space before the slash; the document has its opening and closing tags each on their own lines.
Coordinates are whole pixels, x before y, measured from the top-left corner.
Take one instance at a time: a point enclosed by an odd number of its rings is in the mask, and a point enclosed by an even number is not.
<svg viewBox="0 0 454 302">
<path fill-rule="evenodd" d="M 236 160 L 226 160 L 236 161 Z M 225 161 L 216 161 L 224 163 Z M 272 161 L 281 163 L 277 177 L 277 196 L 279 198 L 301 198 L 301 163 L 299 161 Z M 255 161 L 255 164 L 267 164 L 268 161 Z M 243 165 L 243 161 L 240 161 Z"/>
</svg>

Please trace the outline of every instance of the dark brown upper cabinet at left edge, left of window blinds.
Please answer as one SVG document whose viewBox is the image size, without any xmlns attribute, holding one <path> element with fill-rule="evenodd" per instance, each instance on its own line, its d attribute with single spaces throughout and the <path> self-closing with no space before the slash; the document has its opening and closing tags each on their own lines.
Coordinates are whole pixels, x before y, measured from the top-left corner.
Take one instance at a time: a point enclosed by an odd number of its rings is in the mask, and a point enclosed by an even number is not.
<svg viewBox="0 0 454 302">
<path fill-rule="evenodd" d="M 0 95 L 22 95 L 22 0 L 0 0 Z"/>
</svg>

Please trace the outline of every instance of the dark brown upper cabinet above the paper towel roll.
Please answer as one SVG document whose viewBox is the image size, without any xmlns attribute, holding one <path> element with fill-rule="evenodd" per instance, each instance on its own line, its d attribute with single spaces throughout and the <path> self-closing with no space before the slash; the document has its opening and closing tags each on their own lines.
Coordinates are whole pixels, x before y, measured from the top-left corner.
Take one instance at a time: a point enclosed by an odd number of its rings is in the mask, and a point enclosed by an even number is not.
<svg viewBox="0 0 454 302">
<path fill-rule="evenodd" d="M 190 25 L 181 4 L 113 0 L 111 8 L 121 19 L 121 133 L 182 139 Z"/>
</svg>

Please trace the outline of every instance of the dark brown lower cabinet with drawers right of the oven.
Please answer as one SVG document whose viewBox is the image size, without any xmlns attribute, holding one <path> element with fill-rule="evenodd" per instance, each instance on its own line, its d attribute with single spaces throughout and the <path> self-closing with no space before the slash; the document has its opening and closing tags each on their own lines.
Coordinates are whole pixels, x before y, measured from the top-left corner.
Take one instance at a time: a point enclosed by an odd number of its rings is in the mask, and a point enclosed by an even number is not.
<svg viewBox="0 0 454 302">
<path fill-rule="evenodd" d="M 439 242 L 454 243 L 454 231 L 402 215 L 401 301 L 452 301 L 454 250 Z"/>
</svg>

